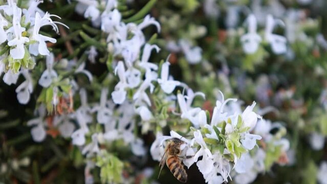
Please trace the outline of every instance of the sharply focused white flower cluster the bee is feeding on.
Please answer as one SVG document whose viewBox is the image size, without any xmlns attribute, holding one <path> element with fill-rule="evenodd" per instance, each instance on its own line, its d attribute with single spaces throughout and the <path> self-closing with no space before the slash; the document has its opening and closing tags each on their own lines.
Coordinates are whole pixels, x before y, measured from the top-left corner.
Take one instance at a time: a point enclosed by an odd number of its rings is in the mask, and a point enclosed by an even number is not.
<svg viewBox="0 0 327 184">
<path fill-rule="evenodd" d="M 158 151 L 158 148 L 163 147 L 165 140 L 176 137 L 182 139 L 186 144 L 182 149 L 184 154 L 182 157 L 185 157 L 183 163 L 188 168 L 193 163 L 197 163 L 206 182 L 227 182 L 230 177 L 231 164 L 234 165 L 232 168 L 242 172 L 242 169 L 239 168 L 245 167 L 242 163 L 244 155 L 247 155 L 257 145 L 257 140 L 261 140 L 260 135 L 250 133 L 255 128 L 257 119 L 261 117 L 253 112 L 255 102 L 243 112 L 238 111 L 238 108 L 227 104 L 230 101 L 236 103 L 236 99 L 224 100 L 221 93 L 221 100 L 216 101 L 211 121 L 208 123 L 207 119 L 210 117 L 207 117 L 204 110 L 199 107 L 191 107 L 193 97 L 194 94 L 189 90 L 186 97 L 187 103 L 185 97 L 178 94 L 181 118 L 189 120 L 194 126 L 191 127 L 193 139 L 187 140 L 174 131 L 170 132 L 170 136 L 158 136 L 150 149 L 152 158 L 160 160 L 164 150 L 162 148 Z M 189 155 L 192 158 L 187 158 Z M 198 160 L 200 156 L 202 159 Z M 241 160 L 239 160 L 240 158 Z"/>
</svg>

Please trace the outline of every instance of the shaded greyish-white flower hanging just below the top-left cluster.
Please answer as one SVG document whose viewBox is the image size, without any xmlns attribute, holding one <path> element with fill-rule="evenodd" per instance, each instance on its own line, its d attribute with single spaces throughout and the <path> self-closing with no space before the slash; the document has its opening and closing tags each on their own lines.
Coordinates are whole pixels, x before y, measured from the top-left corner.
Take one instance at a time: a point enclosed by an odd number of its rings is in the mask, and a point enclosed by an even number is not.
<svg viewBox="0 0 327 184">
<path fill-rule="evenodd" d="M 19 103 L 27 104 L 30 101 L 31 93 L 33 92 L 33 82 L 31 75 L 27 70 L 23 70 L 21 73 L 24 75 L 26 81 L 16 88 L 17 99 Z"/>
</svg>

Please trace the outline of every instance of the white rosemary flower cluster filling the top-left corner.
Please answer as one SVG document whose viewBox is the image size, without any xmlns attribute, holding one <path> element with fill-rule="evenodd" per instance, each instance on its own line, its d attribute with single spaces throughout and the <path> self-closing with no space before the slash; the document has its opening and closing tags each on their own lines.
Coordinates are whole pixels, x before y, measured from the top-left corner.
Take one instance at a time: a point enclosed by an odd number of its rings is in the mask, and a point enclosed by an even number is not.
<svg viewBox="0 0 327 184">
<path fill-rule="evenodd" d="M 55 38 L 41 34 L 41 27 L 51 26 L 59 33 L 56 24 L 66 26 L 51 19 L 60 17 L 40 10 L 37 7 L 40 3 L 42 1 L 31 0 L 26 8 L 20 8 L 15 1 L 8 0 L 7 4 L 0 5 L 0 74 L 5 73 L 3 80 L 8 85 L 16 84 L 20 74 L 25 77 L 25 82 L 16 88 L 21 104 L 27 104 L 33 92 L 29 70 L 34 68 L 36 57 L 49 56 L 46 41 L 56 42 Z"/>
</svg>

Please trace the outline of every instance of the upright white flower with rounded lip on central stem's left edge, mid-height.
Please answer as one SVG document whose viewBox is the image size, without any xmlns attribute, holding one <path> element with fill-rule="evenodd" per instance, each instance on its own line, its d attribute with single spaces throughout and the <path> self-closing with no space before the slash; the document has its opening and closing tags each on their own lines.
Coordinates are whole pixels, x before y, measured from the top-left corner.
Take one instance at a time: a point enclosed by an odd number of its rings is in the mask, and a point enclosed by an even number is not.
<svg viewBox="0 0 327 184">
<path fill-rule="evenodd" d="M 115 91 L 111 94 L 113 101 L 115 104 L 122 104 L 126 99 L 126 90 L 125 88 L 128 86 L 126 82 L 126 73 L 124 63 L 119 61 L 115 68 L 115 75 L 118 74 L 119 82 L 115 86 Z"/>
</svg>

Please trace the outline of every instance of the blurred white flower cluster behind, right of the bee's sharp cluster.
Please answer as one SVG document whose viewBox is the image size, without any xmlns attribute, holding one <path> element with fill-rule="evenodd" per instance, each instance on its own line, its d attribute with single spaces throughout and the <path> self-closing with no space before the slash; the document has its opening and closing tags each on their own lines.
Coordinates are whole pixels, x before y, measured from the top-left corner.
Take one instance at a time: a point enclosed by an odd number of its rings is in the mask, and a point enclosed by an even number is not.
<svg viewBox="0 0 327 184">
<path fill-rule="evenodd" d="M 272 133 L 273 131 L 276 132 Z M 287 155 L 290 142 L 282 137 L 286 134 L 286 129 L 280 123 L 261 119 L 253 133 L 260 135 L 262 139 L 257 149 L 243 154 L 238 160 L 233 176 L 236 183 L 252 183 L 259 173 L 269 171 L 274 163 L 291 164 Z"/>
</svg>

